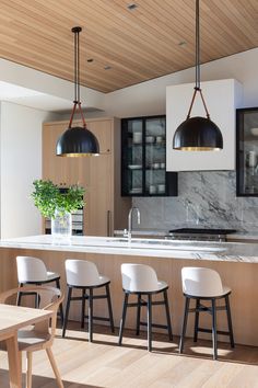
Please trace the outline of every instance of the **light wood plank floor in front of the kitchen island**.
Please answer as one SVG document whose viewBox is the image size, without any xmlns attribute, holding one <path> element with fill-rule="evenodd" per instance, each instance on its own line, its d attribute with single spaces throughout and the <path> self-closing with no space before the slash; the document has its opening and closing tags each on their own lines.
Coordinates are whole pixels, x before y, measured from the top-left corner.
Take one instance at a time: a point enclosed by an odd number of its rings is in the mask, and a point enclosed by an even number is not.
<svg viewBox="0 0 258 388">
<path fill-rule="evenodd" d="M 155 334 L 154 351 L 145 350 L 145 333 L 125 333 L 122 346 L 108 328 L 95 327 L 94 343 L 72 323 L 67 338 L 60 330 L 54 353 L 66 388 L 253 388 L 258 387 L 258 347 L 220 343 L 219 361 L 211 360 L 211 342 L 191 339 L 178 355 L 178 338 Z M 5 353 L 0 352 L 0 387 L 9 387 Z M 56 388 L 45 352 L 34 354 L 33 388 Z"/>
</svg>

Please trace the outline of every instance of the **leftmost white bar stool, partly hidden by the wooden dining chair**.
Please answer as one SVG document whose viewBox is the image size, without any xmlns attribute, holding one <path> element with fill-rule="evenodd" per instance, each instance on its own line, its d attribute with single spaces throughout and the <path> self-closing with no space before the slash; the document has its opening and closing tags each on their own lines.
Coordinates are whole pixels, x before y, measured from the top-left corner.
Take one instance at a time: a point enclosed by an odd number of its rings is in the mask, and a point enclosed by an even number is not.
<svg viewBox="0 0 258 388">
<path fill-rule="evenodd" d="M 31 284 L 40 286 L 47 283 L 56 283 L 56 287 L 60 289 L 60 275 L 56 272 L 47 271 L 45 263 L 33 256 L 16 256 L 16 266 L 17 266 L 17 282 L 19 287 L 23 287 L 24 284 Z M 21 305 L 22 297 L 24 295 L 32 295 L 32 293 L 20 292 L 17 294 L 17 306 Z M 35 294 L 35 307 L 39 307 L 38 295 Z M 59 307 L 59 313 L 61 319 L 61 324 L 63 324 L 63 311 L 62 304 Z"/>
</svg>

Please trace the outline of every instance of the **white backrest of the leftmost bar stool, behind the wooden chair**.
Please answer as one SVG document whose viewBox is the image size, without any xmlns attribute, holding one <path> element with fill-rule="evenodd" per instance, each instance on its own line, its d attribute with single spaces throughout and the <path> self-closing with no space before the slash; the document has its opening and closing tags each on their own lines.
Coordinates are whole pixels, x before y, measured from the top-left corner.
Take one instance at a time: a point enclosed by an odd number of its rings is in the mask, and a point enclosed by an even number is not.
<svg viewBox="0 0 258 388">
<path fill-rule="evenodd" d="M 17 281 L 44 282 L 47 279 L 47 269 L 40 259 L 32 256 L 16 256 Z"/>
</svg>

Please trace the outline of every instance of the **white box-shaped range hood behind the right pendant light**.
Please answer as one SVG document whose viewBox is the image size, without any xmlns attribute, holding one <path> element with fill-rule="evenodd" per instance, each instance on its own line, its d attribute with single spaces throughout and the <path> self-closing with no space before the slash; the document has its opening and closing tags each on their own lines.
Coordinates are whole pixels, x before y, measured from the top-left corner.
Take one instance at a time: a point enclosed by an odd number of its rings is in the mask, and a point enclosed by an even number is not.
<svg viewBox="0 0 258 388">
<path fill-rule="evenodd" d="M 235 110 L 242 104 L 242 85 L 234 79 L 201 83 L 210 118 L 221 129 L 223 149 L 221 151 L 173 150 L 173 137 L 181 122 L 186 119 L 194 94 L 194 83 L 166 88 L 166 170 L 235 170 Z M 192 116 L 206 116 L 200 93 L 197 94 Z"/>
</svg>

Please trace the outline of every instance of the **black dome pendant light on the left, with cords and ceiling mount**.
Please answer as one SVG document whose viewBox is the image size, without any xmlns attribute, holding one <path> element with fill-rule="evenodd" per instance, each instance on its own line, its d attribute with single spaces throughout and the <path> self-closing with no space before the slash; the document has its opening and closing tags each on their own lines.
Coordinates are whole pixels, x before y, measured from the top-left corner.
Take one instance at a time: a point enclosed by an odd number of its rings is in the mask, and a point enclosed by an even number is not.
<svg viewBox="0 0 258 388">
<path fill-rule="evenodd" d="M 68 129 L 57 141 L 56 153 L 59 157 L 86 157 L 99 155 L 97 138 L 86 128 L 80 101 L 80 58 L 79 58 L 79 34 L 81 27 L 71 30 L 74 34 L 74 101 Z M 82 117 L 83 127 L 72 127 L 72 121 L 77 107 Z"/>
</svg>

